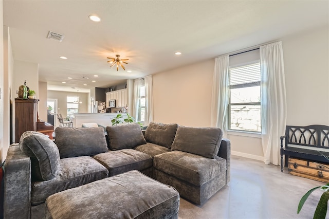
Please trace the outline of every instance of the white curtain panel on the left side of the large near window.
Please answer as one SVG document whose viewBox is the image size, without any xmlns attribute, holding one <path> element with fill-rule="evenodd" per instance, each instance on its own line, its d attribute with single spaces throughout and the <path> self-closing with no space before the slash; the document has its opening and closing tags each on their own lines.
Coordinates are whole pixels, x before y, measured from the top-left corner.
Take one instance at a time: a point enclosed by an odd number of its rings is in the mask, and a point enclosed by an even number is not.
<svg viewBox="0 0 329 219">
<path fill-rule="evenodd" d="M 227 138 L 227 105 L 229 86 L 229 56 L 215 59 L 212 81 L 211 121 L 212 127 L 223 130 L 223 137 Z"/>
</svg>

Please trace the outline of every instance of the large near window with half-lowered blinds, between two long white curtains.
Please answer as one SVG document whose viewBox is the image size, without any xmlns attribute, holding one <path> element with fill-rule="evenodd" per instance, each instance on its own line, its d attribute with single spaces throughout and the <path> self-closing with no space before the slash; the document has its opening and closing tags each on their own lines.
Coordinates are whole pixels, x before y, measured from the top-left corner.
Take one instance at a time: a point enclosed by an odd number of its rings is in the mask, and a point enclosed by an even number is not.
<svg viewBox="0 0 329 219">
<path fill-rule="evenodd" d="M 228 129 L 261 132 L 261 67 L 229 68 Z"/>
</svg>

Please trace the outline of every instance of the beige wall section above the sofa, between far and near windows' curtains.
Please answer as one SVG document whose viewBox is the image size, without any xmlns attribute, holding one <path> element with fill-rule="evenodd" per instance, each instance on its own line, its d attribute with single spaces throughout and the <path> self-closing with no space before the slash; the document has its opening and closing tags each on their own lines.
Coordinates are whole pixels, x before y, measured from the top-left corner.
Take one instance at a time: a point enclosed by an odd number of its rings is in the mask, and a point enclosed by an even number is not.
<svg viewBox="0 0 329 219">
<path fill-rule="evenodd" d="M 212 59 L 153 75 L 154 121 L 209 126 L 214 64 Z"/>
</svg>

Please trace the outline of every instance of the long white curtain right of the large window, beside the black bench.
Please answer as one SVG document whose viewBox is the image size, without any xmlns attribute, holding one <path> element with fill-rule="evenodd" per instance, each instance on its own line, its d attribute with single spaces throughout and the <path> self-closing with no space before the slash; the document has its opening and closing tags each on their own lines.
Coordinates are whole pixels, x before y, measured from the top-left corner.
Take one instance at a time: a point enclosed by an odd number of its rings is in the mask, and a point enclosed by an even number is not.
<svg viewBox="0 0 329 219">
<path fill-rule="evenodd" d="M 286 125 L 286 89 L 281 42 L 260 47 L 262 146 L 266 164 L 280 163 L 280 136 Z"/>
</svg>

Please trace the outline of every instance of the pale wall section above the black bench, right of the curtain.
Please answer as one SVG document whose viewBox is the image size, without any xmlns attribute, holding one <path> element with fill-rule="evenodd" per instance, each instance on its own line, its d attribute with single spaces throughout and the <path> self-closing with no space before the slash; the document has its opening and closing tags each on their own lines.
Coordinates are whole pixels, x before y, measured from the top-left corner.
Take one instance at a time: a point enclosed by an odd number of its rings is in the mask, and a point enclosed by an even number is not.
<svg viewBox="0 0 329 219">
<path fill-rule="evenodd" d="M 329 125 L 328 27 L 282 40 L 288 125 Z"/>
</svg>

